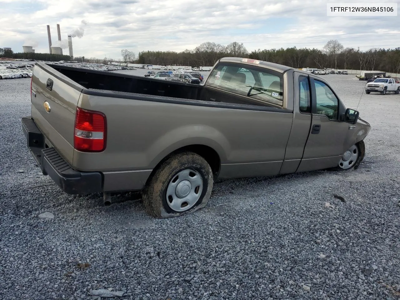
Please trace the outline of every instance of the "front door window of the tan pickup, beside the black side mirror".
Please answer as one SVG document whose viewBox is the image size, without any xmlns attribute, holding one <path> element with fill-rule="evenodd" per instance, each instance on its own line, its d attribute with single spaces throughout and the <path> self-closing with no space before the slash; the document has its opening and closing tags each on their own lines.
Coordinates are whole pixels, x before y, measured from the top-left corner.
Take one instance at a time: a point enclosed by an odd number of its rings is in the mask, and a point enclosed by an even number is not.
<svg viewBox="0 0 400 300">
<path fill-rule="evenodd" d="M 338 119 L 339 101 L 324 82 L 314 80 L 317 114 L 324 114 L 330 120 Z"/>
</svg>

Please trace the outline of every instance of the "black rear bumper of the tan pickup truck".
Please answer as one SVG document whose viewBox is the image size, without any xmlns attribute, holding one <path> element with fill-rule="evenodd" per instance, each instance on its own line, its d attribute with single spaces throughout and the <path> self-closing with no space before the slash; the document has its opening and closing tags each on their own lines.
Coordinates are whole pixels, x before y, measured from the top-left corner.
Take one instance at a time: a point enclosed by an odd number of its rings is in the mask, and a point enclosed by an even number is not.
<svg viewBox="0 0 400 300">
<path fill-rule="evenodd" d="M 58 154 L 53 147 L 46 148 L 45 138 L 31 117 L 22 118 L 27 147 L 43 175 L 52 180 L 67 194 L 92 194 L 103 191 L 100 172 L 79 172 Z"/>
</svg>

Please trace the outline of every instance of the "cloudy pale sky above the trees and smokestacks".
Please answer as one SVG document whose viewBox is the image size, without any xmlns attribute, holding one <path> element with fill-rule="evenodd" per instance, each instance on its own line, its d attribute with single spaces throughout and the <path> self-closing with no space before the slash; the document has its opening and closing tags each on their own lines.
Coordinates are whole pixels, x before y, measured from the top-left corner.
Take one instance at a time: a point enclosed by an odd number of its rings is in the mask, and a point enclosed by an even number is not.
<svg viewBox="0 0 400 300">
<path fill-rule="evenodd" d="M 0 48 L 22 45 L 48 52 L 56 24 L 62 39 L 76 29 L 74 56 L 120 59 L 120 50 L 183 51 L 202 42 L 242 42 L 248 51 L 281 47 L 322 48 L 331 39 L 344 47 L 400 46 L 398 16 L 327 17 L 323 0 L 0 0 Z M 348 1 L 398 3 L 400 0 Z M 86 20 L 87 24 L 81 24 Z M 68 48 L 64 50 L 68 54 Z"/>
</svg>

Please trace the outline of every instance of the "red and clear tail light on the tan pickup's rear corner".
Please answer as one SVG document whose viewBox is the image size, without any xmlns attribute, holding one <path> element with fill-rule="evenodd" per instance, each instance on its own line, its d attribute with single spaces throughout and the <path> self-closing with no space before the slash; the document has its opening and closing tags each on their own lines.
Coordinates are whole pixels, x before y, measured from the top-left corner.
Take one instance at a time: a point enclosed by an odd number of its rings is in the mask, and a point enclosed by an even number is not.
<svg viewBox="0 0 400 300">
<path fill-rule="evenodd" d="M 106 148 L 106 116 L 101 112 L 76 109 L 74 148 L 82 152 L 101 152 Z"/>
</svg>

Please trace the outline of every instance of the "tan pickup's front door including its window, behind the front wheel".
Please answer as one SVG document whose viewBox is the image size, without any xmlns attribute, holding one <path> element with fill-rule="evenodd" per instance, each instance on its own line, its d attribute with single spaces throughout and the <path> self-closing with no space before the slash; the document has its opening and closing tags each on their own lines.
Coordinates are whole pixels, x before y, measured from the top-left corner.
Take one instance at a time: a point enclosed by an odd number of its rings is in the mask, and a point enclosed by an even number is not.
<svg viewBox="0 0 400 300">
<path fill-rule="evenodd" d="M 324 82 L 310 76 L 312 124 L 296 172 L 337 166 L 347 150 L 349 124 L 339 121 L 339 100 Z"/>
</svg>

